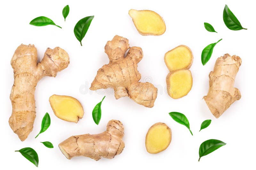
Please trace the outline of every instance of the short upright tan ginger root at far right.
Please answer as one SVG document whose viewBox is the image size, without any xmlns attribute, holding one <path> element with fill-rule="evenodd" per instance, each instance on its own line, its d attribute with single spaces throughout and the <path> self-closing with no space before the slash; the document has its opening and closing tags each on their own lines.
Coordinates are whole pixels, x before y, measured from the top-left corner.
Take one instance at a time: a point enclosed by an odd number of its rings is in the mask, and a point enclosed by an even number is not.
<svg viewBox="0 0 256 170">
<path fill-rule="evenodd" d="M 216 60 L 214 69 L 209 74 L 209 91 L 204 96 L 204 101 L 216 118 L 241 98 L 240 91 L 234 88 L 241 63 L 240 57 L 225 54 Z"/>
</svg>

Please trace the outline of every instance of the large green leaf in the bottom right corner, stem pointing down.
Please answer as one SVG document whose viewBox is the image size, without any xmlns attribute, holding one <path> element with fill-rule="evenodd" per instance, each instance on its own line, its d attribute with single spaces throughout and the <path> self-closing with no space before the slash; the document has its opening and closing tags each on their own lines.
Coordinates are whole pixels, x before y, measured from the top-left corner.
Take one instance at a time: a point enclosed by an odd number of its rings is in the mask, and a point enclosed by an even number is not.
<svg viewBox="0 0 256 170">
<path fill-rule="evenodd" d="M 212 153 L 216 149 L 220 148 L 221 146 L 226 145 L 226 143 L 217 140 L 217 139 L 209 139 L 204 141 L 200 147 L 199 147 L 199 159 L 198 162 L 200 161 L 200 158 L 202 156 L 208 155 L 209 153 Z"/>
</svg>

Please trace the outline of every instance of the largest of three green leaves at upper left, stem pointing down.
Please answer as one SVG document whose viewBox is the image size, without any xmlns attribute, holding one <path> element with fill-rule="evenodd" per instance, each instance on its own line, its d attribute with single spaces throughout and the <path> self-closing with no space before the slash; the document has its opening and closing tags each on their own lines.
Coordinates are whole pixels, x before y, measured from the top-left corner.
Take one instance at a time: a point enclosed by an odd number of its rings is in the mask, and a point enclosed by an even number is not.
<svg viewBox="0 0 256 170">
<path fill-rule="evenodd" d="M 75 33 L 76 39 L 80 42 L 81 46 L 82 46 L 82 39 L 84 38 L 86 32 L 88 31 L 88 28 L 91 25 L 93 18 L 94 16 L 82 18 L 75 25 L 74 33 Z"/>
</svg>

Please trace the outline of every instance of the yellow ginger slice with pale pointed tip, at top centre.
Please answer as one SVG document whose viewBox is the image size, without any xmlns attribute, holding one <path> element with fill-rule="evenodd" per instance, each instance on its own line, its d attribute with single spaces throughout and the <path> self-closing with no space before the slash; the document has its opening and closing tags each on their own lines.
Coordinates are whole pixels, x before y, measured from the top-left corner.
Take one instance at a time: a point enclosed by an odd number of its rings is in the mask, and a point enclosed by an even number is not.
<svg viewBox="0 0 256 170">
<path fill-rule="evenodd" d="M 163 18 L 154 11 L 132 9 L 129 15 L 141 35 L 162 35 L 166 30 Z"/>
</svg>

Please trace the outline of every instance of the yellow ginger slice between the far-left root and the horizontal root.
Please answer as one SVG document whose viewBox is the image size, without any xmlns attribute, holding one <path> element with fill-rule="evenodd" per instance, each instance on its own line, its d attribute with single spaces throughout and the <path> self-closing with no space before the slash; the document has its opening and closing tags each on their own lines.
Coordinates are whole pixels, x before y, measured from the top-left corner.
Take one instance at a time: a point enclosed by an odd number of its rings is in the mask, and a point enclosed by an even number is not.
<svg viewBox="0 0 256 170">
<path fill-rule="evenodd" d="M 81 103 L 71 96 L 52 95 L 49 98 L 54 114 L 68 122 L 78 122 L 84 116 Z"/>
</svg>

